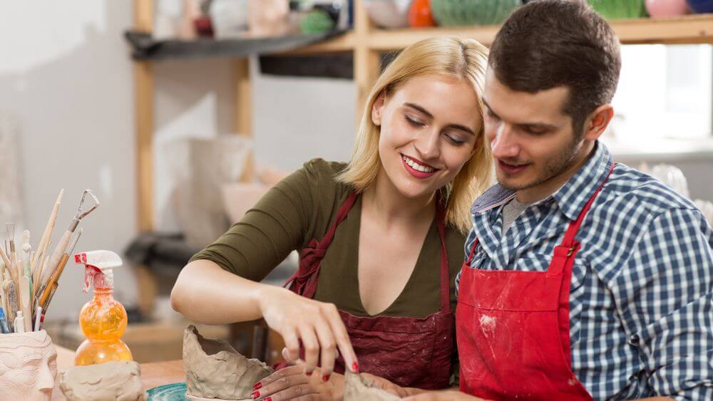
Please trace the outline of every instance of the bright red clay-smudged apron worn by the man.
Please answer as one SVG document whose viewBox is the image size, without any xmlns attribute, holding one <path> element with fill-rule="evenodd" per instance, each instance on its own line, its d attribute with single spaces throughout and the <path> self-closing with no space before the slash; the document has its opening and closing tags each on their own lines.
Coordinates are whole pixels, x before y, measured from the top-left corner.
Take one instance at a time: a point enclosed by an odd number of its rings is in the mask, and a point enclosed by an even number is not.
<svg viewBox="0 0 713 401">
<path fill-rule="evenodd" d="M 571 367 L 570 281 L 575 236 L 607 179 L 570 223 L 547 271 L 471 269 L 474 241 L 456 308 L 461 391 L 487 400 L 592 400 Z"/>
</svg>

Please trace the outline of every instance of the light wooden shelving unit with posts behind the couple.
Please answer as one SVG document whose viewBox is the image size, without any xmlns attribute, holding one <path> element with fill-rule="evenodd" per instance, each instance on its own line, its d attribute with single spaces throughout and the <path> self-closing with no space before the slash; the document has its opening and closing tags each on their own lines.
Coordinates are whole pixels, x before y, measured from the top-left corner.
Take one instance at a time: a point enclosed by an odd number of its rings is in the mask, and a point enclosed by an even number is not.
<svg viewBox="0 0 713 401">
<path fill-rule="evenodd" d="M 357 118 L 371 85 L 379 74 L 381 53 L 396 51 L 423 38 L 456 35 L 489 44 L 498 26 L 438 27 L 384 30 L 369 22 L 362 0 L 354 2 L 354 29 L 329 41 L 316 43 L 286 55 L 311 55 L 353 52 Z M 153 0 L 134 0 L 135 29 L 151 31 Z M 682 16 L 674 19 L 635 19 L 612 21 L 622 43 L 713 43 L 713 14 Z M 137 137 L 138 229 L 153 228 L 153 69 L 152 61 L 135 61 L 135 107 Z M 235 131 L 252 135 L 250 69 L 247 59 L 235 60 Z M 247 177 L 246 177 L 247 178 Z"/>
</svg>

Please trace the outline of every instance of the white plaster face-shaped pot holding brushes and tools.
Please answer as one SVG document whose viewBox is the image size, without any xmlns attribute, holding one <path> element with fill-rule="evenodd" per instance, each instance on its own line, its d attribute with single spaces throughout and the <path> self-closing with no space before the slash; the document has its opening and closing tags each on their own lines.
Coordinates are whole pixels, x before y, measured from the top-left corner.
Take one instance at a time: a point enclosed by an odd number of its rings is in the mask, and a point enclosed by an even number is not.
<svg viewBox="0 0 713 401">
<path fill-rule="evenodd" d="M 48 401 L 57 351 L 45 330 L 0 334 L 0 399 Z"/>
</svg>

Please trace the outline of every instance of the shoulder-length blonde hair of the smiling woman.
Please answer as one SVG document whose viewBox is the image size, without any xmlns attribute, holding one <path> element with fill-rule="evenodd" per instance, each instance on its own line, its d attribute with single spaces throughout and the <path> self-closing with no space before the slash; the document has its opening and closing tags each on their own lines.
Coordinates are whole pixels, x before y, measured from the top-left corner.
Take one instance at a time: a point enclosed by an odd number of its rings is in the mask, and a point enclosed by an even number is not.
<svg viewBox="0 0 713 401">
<path fill-rule="evenodd" d="M 483 135 L 483 84 L 488 66 L 488 48 L 473 39 L 439 36 L 418 41 L 401 51 L 376 80 L 364 105 L 359 130 L 347 168 L 337 176 L 339 182 L 351 184 L 358 192 L 374 184 L 379 172 L 379 127 L 371 121 L 371 108 L 379 94 L 394 93 L 407 80 L 417 75 L 442 75 L 473 85 L 481 114 L 481 127 L 476 132 L 473 155 L 460 172 L 439 189 L 446 199 L 446 224 L 465 234 L 471 228 L 471 202 L 485 191 L 493 177 L 490 147 Z"/>
</svg>

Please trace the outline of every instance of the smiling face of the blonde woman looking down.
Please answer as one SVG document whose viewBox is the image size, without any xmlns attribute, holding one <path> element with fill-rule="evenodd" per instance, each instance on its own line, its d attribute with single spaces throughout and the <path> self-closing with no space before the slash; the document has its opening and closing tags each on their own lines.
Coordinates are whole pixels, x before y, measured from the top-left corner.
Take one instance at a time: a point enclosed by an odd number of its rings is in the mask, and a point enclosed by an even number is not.
<svg viewBox="0 0 713 401">
<path fill-rule="evenodd" d="M 409 198 L 430 196 L 451 182 L 471 158 L 483 125 L 473 86 L 442 75 L 419 75 L 381 93 L 371 120 L 380 127 L 383 172 Z"/>
</svg>

